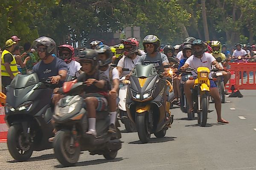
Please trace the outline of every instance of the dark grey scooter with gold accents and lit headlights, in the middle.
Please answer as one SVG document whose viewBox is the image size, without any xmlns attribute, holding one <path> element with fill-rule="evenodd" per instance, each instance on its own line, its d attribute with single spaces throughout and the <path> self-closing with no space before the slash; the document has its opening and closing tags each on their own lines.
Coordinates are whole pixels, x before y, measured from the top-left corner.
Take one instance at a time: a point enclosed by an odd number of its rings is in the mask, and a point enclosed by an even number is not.
<svg viewBox="0 0 256 170">
<path fill-rule="evenodd" d="M 162 73 L 157 74 L 153 64 L 136 65 L 132 70 L 127 87 L 126 111 L 136 125 L 142 143 L 148 142 L 151 133 L 157 138 L 164 137 L 173 122 L 168 102 L 172 90 L 170 85 Z"/>
</svg>

